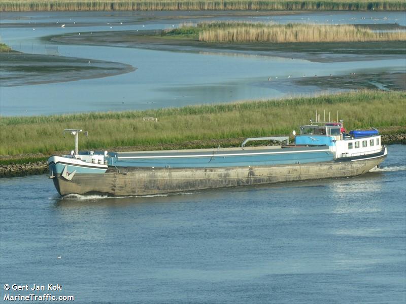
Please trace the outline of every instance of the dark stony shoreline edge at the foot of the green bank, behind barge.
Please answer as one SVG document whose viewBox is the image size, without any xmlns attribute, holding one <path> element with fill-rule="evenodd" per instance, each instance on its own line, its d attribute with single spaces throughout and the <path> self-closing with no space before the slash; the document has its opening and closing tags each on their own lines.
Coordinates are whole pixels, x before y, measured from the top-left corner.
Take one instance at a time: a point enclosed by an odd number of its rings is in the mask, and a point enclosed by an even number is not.
<svg viewBox="0 0 406 304">
<path fill-rule="evenodd" d="M 229 147 L 239 146 L 243 138 L 218 139 L 210 141 L 191 141 L 181 144 L 165 144 L 161 146 L 136 146 L 136 147 L 113 147 L 119 151 L 133 150 L 167 150 L 167 149 L 192 149 L 192 148 L 212 148 L 213 146 Z M 293 140 L 293 138 L 291 138 Z M 382 144 L 406 144 L 406 133 L 381 134 Z M 67 151 L 56 153 L 55 155 L 67 154 Z M 49 156 L 10 156 L 7 160 L 0 160 L 0 178 L 21 177 L 28 175 L 41 175 L 48 173 L 47 159 Z"/>
</svg>

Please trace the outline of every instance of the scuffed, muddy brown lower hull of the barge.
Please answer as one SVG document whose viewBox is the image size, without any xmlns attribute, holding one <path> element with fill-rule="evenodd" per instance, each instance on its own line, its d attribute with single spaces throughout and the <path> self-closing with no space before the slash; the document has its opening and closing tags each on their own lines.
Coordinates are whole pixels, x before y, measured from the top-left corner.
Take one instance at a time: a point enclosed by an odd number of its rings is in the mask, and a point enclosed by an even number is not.
<svg viewBox="0 0 406 304">
<path fill-rule="evenodd" d="M 143 196 L 202 189 L 272 184 L 361 175 L 379 165 L 386 153 L 352 161 L 220 168 L 109 167 L 103 174 L 53 177 L 60 195 Z"/>
</svg>

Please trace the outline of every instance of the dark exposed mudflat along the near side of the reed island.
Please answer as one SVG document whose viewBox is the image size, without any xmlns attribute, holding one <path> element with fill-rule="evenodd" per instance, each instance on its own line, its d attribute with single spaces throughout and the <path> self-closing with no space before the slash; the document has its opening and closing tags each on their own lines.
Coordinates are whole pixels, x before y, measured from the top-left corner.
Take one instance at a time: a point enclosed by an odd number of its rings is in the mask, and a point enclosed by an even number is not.
<svg viewBox="0 0 406 304">
<path fill-rule="evenodd" d="M 100 31 L 49 36 L 51 42 L 143 48 L 183 52 L 238 52 L 315 62 L 341 62 L 404 58 L 402 41 L 312 43 L 207 43 L 188 37 L 165 36 L 161 30 Z"/>
</svg>

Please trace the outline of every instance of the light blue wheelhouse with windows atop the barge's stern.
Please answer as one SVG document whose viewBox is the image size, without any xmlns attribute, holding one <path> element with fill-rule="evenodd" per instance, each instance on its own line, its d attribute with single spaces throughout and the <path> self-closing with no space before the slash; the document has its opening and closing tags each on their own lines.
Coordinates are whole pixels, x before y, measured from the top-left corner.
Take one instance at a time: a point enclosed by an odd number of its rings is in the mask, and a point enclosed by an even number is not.
<svg viewBox="0 0 406 304">
<path fill-rule="evenodd" d="M 340 123 L 300 126 L 300 135 L 296 136 L 295 143 L 334 146 L 336 140 L 342 139 L 342 128 Z"/>
</svg>

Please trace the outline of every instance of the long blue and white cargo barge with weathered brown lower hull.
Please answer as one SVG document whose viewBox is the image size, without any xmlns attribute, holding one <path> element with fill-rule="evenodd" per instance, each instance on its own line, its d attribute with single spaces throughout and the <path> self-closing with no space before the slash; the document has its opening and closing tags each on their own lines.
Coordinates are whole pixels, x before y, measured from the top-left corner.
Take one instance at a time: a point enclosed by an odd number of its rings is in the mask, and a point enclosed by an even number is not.
<svg viewBox="0 0 406 304">
<path fill-rule="evenodd" d="M 50 178 L 61 196 L 144 196 L 203 189 L 342 178 L 364 174 L 387 156 L 376 129 L 346 133 L 343 121 L 300 126 L 289 137 L 246 139 L 240 147 L 165 151 L 78 151 L 48 159 Z M 281 145 L 246 146 L 250 141 Z M 286 143 L 283 143 L 285 142 Z"/>
</svg>

